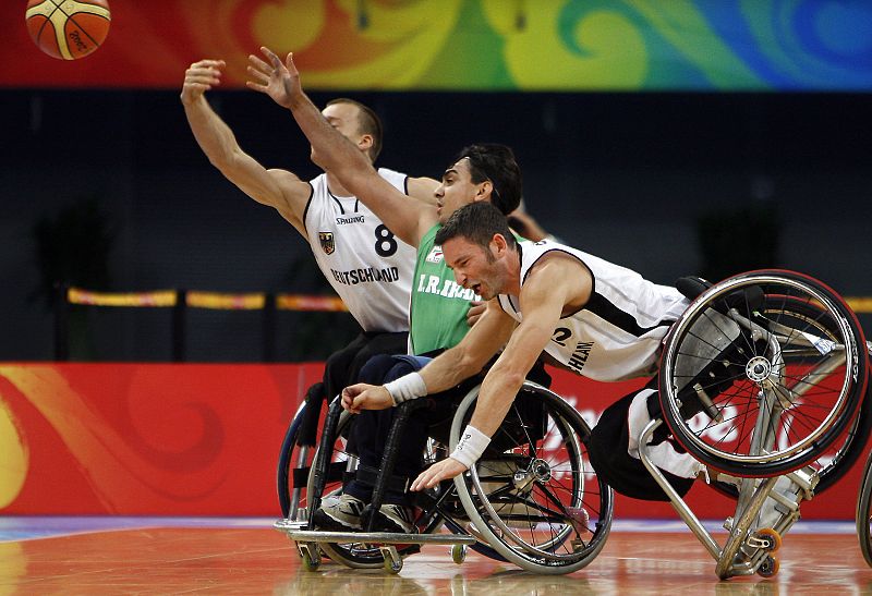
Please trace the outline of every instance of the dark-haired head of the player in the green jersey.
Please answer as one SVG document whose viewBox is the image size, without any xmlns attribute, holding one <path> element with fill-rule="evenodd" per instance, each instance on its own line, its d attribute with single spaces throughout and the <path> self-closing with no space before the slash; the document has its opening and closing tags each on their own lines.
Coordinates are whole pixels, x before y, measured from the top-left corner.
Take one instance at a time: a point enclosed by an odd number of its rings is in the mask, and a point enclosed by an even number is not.
<svg viewBox="0 0 872 596">
<path fill-rule="evenodd" d="M 489 200 L 502 214 L 521 203 L 521 168 L 505 145 L 477 144 L 463 148 L 436 188 L 439 220 L 476 200 Z"/>
</svg>

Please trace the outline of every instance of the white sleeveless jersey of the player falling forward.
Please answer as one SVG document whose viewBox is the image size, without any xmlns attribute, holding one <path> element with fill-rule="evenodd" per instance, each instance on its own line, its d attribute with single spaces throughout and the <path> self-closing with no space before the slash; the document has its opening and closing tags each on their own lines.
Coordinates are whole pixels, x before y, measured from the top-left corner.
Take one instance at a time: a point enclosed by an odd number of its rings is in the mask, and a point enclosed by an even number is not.
<svg viewBox="0 0 872 596">
<path fill-rule="evenodd" d="M 658 285 L 635 271 L 550 241 L 521 243 L 521 285 L 543 255 L 560 251 L 578 258 L 593 275 L 584 307 L 560 319 L 545 351 L 585 377 L 616 381 L 656 373 L 663 338 L 688 300 L 675 288 Z M 518 321 L 518 296 L 499 295 Z"/>
</svg>

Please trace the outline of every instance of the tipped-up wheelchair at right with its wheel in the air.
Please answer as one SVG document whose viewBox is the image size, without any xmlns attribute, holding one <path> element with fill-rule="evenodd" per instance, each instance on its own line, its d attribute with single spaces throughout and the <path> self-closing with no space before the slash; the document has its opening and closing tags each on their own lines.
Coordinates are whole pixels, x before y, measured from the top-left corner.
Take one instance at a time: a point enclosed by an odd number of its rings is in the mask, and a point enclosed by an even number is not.
<svg viewBox="0 0 872 596">
<path fill-rule="evenodd" d="M 856 316 L 801 273 L 729 278 L 704 290 L 673 326 L 659 374 L 662 417 L 642 431 L 640 459 L 720 579 L 777 572 L 774 554 L 801 501 L 822 479 L 841 477 L 864 448 L 868 377 Z M 646 446 L 663 424 L 706 470 L 732 478 L 734 490 L 718 486 L 737 499 L 723 547 L 652 463 Z M 776 489 L 779 483 L 788 489 Z"/>
</svg>

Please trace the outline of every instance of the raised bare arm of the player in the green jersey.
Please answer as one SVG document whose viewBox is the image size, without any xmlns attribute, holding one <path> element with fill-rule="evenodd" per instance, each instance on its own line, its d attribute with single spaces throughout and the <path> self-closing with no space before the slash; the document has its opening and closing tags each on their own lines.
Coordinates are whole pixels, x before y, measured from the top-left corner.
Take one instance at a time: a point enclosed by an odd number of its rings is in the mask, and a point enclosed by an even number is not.
<svg viewBox="0 0 872 596">
<path fill-rule="evenodd" d="M 246 82 L 249 88 L 290 109 L 312 144 L 318 166 L 336 175 L 403 242 L 417 246 L 424 232 L 436 223 L 436 209 L 421 202 L 410 202 L 378 175 L 351 142 L 334 130 L 303 93 L 292 53 L 282 63 L 269 48 L 262 47 L 261 51 L 266 62 L 256 56 L 249 57 L 249 74 L 254 78 Z"/>
</svg>

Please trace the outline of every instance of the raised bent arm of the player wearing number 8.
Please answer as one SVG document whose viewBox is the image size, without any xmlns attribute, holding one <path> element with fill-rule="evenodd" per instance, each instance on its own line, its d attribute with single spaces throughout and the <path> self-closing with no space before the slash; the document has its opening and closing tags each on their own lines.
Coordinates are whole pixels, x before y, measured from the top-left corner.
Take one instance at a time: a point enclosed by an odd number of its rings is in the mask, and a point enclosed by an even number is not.
<svg viewBox="0 0 872 596">
<path fill-rule="evenodd" d="M 215 113 L 205 93 L 220 84 L 223 60 L 194 62 L 184 73 L 181 100 L 197 144 L 213 166 L 246 195 L 276 208 L 305 234 L 303 209 L 312 192 L 287 170 L 267 170 L 239 146 L 230 127 Z"/>
</svg>

